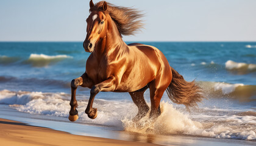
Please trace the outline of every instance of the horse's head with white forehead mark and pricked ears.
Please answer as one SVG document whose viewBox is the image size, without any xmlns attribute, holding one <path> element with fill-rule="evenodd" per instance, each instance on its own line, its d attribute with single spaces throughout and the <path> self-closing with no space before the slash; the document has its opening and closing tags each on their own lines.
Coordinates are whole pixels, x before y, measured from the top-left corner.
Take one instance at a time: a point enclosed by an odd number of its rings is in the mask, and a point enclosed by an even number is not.
<svg viewBox="0 0 256 146">
<path fill-rule="evenodd" d="M 90 1 L 90 9 L 94 7 L 93 1 Z M 84 41 L 86 52 L 93 52 L 94 46 L 99 40 L 107 34 L 107 2 L 102 5 L 102 10 L 93 10 L 87 18 L 87 36 Z"/>
</svg>

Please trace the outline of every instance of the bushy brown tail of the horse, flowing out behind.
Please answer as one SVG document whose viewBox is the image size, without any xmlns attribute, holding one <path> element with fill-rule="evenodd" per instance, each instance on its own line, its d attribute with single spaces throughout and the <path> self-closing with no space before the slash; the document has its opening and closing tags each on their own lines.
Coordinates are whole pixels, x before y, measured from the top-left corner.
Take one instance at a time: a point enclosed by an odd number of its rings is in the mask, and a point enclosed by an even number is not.
<svg viewBox="0 0 256 146">
<path fill-rule="evenodd" d="M 183 104 L 187 107 L 197 106 L 197 102 L 201 102 L 202 89 L 192 82 L 187 82 L 184 80 L 182 75 L 171 68 L 172 71 L 172 81 L 168 88 L 166 89 L 169 99 L 177 104 Z"/>
</svg>

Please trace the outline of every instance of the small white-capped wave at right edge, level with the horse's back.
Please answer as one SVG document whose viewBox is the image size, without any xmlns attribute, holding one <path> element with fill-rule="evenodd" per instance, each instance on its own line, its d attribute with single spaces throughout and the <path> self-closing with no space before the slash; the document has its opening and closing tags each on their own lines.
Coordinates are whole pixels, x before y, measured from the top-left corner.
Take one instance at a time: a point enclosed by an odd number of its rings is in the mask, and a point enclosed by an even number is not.
<svg viewBox="0 0 256 146">
<path fill-rule="evenodd" d="M 233 72 L 238 72 L 239 74 L 247 74 L 249 72 L 256 71 L 256 64 L 247 64 L 247 63 L 237 63 L 232 60 L 228 60 L 226 63 L 226 69 Z"/>
</svg>

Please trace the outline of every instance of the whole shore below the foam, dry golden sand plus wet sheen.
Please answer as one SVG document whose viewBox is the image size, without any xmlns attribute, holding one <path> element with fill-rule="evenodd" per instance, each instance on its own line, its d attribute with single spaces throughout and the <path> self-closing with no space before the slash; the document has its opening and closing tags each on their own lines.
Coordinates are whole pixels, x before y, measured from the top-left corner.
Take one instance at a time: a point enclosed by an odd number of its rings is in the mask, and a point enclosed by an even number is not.
<svg viewBox="0 0 256 146">
<path fill-rule="evenodd" d="M 255 141 L 196 136 L 168 136 L 107 130 L 51 116 L 18 112 L 0 106 L 0 141 L 8 145 L 255 145 Z M 6 114 L 9 113 L 9 114 Z M 35 117 L 40 116 L 40 117 Z M 42 117 L 41 117 L 42 116 Z M 79 130 L 79 129 L 80 130 Z M 73 129 L 73 130 L 71 130 Z"/>
</svg>

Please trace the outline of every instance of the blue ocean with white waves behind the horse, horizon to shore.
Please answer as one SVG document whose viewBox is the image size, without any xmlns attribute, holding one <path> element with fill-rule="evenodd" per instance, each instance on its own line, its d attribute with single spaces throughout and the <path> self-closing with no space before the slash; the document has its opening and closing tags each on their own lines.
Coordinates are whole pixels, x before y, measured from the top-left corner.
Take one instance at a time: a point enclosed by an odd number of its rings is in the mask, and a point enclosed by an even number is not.
<svg viewBox="0 0 256 146">
<path fill-rule="evenodd" d="M 196 80 L 205 96 L 197 108 L 188 112 L 165 93 L 154 123 L 147 117 L 133 123 L 138 109 L 128 93 L 100 92 L 94 100 L 98 117 L 92 120 L 84 113 L 90 89 L 79 87 L 79 119 L 69 122 L 70 82 L 85 72 L 90 55 L 82 42 L 1 42 L 1 118 L 113 139 L 152 134 L 166 137 L 158 143 L 167 145 L 169 136 L 255 144 L 256 42 L 138 43 L 157 47 L 185 80 Z M 150 105 L 148 90 L 144 96 Z"/>
</svg>

